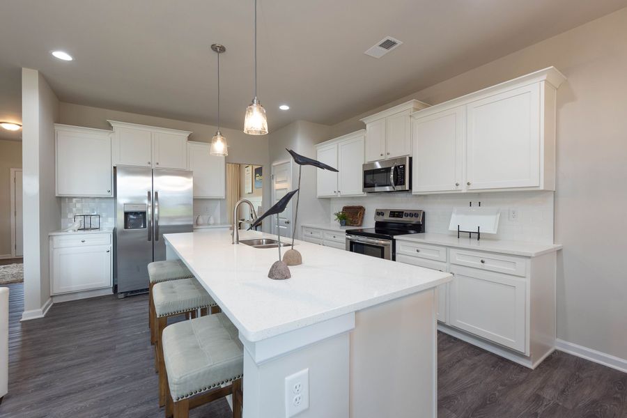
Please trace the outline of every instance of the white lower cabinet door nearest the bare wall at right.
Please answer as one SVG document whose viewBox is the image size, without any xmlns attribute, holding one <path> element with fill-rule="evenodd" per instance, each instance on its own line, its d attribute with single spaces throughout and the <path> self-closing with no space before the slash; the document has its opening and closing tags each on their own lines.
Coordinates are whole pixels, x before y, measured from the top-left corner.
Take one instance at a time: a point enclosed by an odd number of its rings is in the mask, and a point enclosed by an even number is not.
<svg viewBox="0 0 627 418">
<path fill-rule="evenodd" d="M 471 268 L 451 272 L 450 325 L 525 353 L 525 279 Z"/>
</svg>

